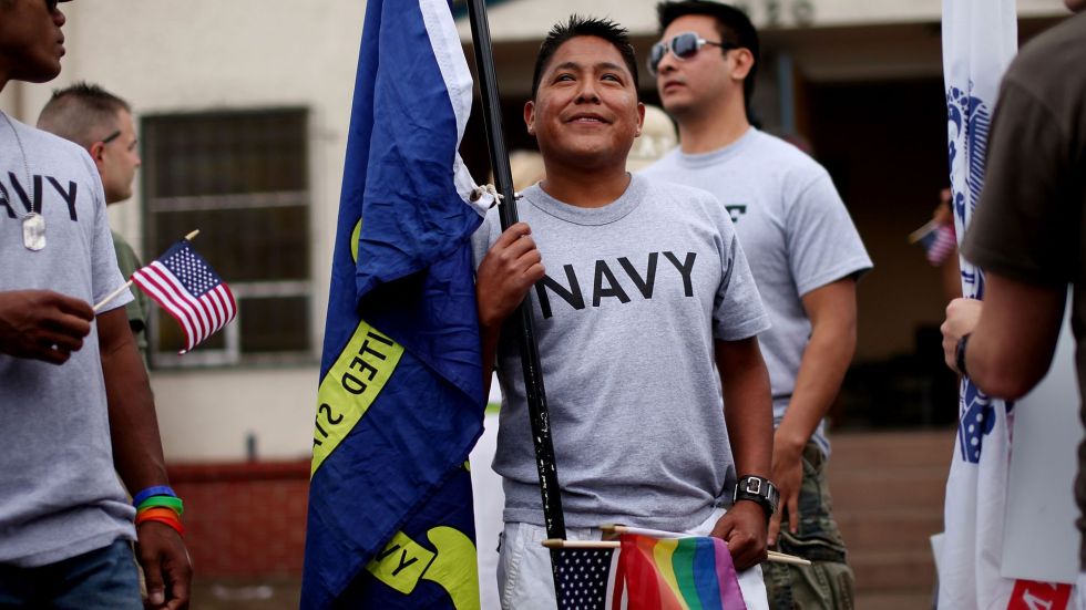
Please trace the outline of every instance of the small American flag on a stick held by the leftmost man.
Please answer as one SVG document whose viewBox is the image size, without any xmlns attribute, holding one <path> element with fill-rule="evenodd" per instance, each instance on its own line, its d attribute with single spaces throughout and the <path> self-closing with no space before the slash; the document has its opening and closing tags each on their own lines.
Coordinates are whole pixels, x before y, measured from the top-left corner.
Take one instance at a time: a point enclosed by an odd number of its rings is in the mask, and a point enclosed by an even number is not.
<svg viewBox="0 0 1086 610">
<path fill-rule="evenodd" d="M 192 351 L 237 316 L 234 294 L 187 239 L 132 273 L 132 281 L 161 304 L 185 331 Z"/>
</svg>

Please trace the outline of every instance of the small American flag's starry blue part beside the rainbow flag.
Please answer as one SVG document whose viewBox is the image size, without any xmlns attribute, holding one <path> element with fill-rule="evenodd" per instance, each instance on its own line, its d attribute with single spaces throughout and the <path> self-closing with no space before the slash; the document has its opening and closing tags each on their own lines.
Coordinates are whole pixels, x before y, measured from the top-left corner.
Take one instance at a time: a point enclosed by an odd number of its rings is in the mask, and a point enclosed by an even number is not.
<svg viewBox="0 0 1086 610">
<path fill-rule="evenodd" d="M 605 610 L 612 608 L 611 562 L 615 549 L 555 550 L 559 610 Z"/>
</svg>

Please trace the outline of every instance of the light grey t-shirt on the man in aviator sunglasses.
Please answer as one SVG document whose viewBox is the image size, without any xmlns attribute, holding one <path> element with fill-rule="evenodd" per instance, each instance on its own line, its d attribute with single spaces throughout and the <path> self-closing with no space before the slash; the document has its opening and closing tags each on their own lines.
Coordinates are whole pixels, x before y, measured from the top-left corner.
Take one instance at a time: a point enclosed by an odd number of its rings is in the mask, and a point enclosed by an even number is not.
<svg viewBox="0 0 1086 610">
<path fill-rule="evenodd" d="M 772 321 L 758 340 L 779 424 L 811 334 L 802 297 L 871 269 L 833 182 L 800 149 L 754 127 L 711 153 L 676 148 L 642 174 L 704 188 L 731 215 Z M 821 424 L 814 441 L 829 453 Z"/>
</svg>

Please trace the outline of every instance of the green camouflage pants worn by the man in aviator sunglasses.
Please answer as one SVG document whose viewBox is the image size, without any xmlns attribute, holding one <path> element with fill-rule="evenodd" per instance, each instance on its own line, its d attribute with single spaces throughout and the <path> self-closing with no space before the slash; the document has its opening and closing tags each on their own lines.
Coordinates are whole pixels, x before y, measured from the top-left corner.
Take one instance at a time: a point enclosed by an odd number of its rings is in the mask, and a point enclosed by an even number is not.
<svg viewBox="0 0 1086 610">
<path fill-rule="evenodd" d="M 775 550 L 805 557 L 813 565 L 762 564 L 772 610 L 854 608 L 852 568 L 848 565 L 844 541 L 832 513 L 826 456 L 808 442 L 803 449 L 803 483 L 799 490 L 799 530 L 796 534 L 788 531 L 786 515 Z"/>
</svg>

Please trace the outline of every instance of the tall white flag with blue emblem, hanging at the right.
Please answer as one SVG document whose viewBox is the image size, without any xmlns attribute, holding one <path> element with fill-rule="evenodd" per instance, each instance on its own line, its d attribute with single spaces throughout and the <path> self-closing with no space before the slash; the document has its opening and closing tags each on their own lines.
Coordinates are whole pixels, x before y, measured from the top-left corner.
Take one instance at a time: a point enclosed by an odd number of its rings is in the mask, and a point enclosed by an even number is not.
<svg viewBox="0 0 1086 610">
<path fill-rule="evenodd" d="M 1017 51 L 1014 0 L 943 0 L 943 74 L 954 225 L 961 240 L 981 198 L 992 116 Z M 984 298 L 981 270 L 961 260 L 962 294 Z M 959 430 L 943 510 L 939 607 L 1006 608 L 1003 558 L 1013 405 L 962 380 Z"/>
</svg>

